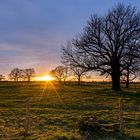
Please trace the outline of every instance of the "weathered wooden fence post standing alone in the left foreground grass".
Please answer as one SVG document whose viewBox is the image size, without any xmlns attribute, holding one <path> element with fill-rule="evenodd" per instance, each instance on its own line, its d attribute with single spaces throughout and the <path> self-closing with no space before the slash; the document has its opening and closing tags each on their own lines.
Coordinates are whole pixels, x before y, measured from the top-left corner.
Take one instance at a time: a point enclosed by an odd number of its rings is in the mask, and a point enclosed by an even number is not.
<svg viewBox="0 0 140 140">
<path fill-rule="evenodd" d="M 29 128 L 30 128 L 30 106 L 29 100 L 26 100 L 26 118 L 25 118 L 25 135 L 29 135 Z"/>
</svg>

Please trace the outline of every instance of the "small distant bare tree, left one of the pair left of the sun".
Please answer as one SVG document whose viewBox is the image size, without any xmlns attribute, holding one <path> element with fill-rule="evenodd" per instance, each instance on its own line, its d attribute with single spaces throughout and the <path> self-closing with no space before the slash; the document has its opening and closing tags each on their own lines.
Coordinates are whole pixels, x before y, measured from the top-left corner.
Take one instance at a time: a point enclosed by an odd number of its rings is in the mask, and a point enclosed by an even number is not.
<svg viewBox="0 0 140 140">
<path fill-rule="evenodd" d="M 10 74 L 8 75 L 10 80 L 14 80 L 15 82 L 19 81 L 21 78 L 22 70 L 19 68 L 14 68 Z"/>
</svg>

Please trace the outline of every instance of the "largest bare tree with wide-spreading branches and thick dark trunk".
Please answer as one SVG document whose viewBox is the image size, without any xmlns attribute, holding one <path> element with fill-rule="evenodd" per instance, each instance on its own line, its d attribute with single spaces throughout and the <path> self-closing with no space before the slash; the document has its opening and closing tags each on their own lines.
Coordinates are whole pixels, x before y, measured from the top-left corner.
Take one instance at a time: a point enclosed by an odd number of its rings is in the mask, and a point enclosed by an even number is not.
<svg viewBox="0 0 140 140">
<path fill-rule="evenodd" d="M 112 89 L 120 90 L 124 60 L 130 42 L 140 44 L 140 13 L 135 7 L 118 4 L 105 16 L 93 15 L 71 47 L 63 47 L 63 58 L 70 65 L 110 75 Z M 134 47 L 139 57 L 140 47 Z"/>
</svg>

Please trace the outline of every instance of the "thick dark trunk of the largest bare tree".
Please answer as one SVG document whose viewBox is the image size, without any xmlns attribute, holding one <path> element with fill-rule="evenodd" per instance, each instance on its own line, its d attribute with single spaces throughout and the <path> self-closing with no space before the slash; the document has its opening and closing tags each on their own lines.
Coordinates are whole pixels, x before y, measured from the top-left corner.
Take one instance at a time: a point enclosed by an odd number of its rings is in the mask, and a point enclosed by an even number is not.
<svg viewBox="0 0 140 140">
<path fill-rule="evenodd" d="M 115 65 L 112 68 L 112 89 L 115 91 L 120 91 L 120 67 Z"/>
</svg>

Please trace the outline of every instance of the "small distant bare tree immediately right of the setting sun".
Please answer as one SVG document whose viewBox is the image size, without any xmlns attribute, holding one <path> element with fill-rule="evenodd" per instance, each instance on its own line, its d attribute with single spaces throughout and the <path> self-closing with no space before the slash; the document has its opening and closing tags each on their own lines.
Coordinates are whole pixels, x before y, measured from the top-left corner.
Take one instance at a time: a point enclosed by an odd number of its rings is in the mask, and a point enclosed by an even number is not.
<svg viewBox="0 0 140 140">
<path fill-rule="evenodd" d="M 50 75 L 54 77 L 56 80 L 58 80 L 59 83 L 61 83 L 62 80 L 64 80 L 65 82 L 68 76 L 67 73 L 68 73 L 68 69 L 67 67 L 64 66 L 57 66 L 55 69 L 50 71 Z"/>
</svg>

